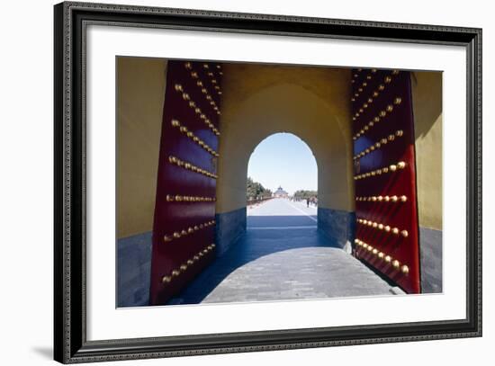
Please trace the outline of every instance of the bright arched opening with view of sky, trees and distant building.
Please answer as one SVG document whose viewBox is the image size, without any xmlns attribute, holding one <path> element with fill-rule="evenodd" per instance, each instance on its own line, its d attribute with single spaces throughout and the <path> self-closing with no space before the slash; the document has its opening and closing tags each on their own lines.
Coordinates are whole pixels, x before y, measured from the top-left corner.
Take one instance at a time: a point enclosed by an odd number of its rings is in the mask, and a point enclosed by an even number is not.
<svg viewBox="0 0 495 366">
<path fill-rule="evenodd" d="M 317 226 L 318 165 L 292 133 L 263 139 L 247 165 L 247 229 Z"/>
</svg>

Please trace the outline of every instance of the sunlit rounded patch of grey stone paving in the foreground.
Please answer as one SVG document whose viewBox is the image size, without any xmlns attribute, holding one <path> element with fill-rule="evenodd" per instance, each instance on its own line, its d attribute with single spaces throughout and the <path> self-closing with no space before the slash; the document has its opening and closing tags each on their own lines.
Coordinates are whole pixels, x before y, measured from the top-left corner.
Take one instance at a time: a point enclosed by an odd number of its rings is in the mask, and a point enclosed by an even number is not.
<svg viewBox="0 0 495 366">
<path fill-rule="evenodd" d="M 391 286 L 342 249 L 269 254 L 231 272 L 202 302 L 324 299 L 391 294 Z"/>
</svg>

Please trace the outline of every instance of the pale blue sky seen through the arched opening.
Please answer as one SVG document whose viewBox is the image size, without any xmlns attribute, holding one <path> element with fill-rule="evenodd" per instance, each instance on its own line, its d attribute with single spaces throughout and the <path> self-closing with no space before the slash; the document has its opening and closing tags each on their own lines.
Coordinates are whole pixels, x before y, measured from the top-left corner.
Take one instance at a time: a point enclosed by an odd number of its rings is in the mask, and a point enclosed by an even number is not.
<svg viewBox="0 0 495 366">
<path fill-rule="evenodd" d="M 247 176 L 272 191 L 282 185 L 290 194 L 318 187 L 316 159 L 292 133 L 276 133 L 261 141 L 249 159 Z"/>
</svg>

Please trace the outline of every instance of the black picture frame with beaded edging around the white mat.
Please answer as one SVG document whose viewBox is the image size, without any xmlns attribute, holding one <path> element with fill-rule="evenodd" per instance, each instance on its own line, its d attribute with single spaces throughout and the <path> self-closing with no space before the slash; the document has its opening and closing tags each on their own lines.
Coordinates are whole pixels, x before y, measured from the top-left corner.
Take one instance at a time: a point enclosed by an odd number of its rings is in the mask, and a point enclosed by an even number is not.
<svg viewBox="0 0 495 366">
<path fill-rule="evenodd" d="M 482 335 L 482 30 L 66 2 L 54 7 L 54 355 L 64 363 Z M 467 314 L 464 319 L 215 335 L 86 340 L 85 25 L 163 27 L 463 46 L 467 53 Z"/>
</svg>

